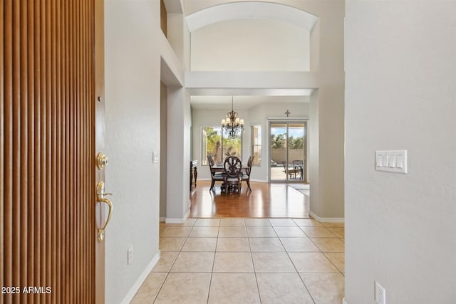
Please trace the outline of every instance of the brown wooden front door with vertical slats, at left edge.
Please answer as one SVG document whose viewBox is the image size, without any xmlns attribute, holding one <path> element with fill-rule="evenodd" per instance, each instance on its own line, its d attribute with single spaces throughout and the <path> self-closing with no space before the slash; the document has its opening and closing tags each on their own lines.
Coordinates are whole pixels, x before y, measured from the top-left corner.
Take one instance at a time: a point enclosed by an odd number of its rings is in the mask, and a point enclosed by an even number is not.
<svg viewBox="0 0 456 304">
<path fill-rule="evenodd" d="M 102 0 L 0 1 L 1 303 L 104 301 L 95 14 Z"/>
</svg>

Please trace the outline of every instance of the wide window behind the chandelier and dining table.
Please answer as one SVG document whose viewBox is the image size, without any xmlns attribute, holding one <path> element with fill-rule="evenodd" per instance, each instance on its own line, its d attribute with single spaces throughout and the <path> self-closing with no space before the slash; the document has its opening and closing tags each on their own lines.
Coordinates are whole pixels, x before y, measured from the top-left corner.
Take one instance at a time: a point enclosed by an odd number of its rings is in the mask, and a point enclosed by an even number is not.
<svg viewBox="0 0 456 304">
<path fill-rule="evenodd" d="M 222 127 L 202 127 L 202 164 L 208 165 L 207 155 L 214 158 L 216 164 L 222 164 L 225 157 L 242 158 L 242 135 L 230 138 Z"/>
</svg>

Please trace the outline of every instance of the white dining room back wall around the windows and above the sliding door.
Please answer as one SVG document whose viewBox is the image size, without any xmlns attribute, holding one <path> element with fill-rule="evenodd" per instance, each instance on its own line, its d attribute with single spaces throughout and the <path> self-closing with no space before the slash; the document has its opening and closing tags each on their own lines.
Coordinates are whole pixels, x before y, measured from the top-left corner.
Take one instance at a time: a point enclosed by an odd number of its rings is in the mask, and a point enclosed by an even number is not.
<svg viewBox="0 0 456 304">
<path fill-rule="evenodd" d="M 271 97 L 269 97 L 271 98 Z M 236 110 L 239 113 L 239 117 L 244 119 L 245 131 L 242 135 L 242 161 L 247 164 L 249 155 L 252 154 L 252 125 L 261 125 L 261 159 L 262 164 L 254 166 L 252 169 L 251 179 L 258 182 L 268 182 L 269 172 L 267 167 L 267 161 L 269 159 L 269 147 L 268 147 L 268 117 L 284 117 L 284 112 L 289 110 L 291 112 L 290 117 L 309 117 L 309 98 L 306 96 L 302 97 L 302 103 L 284 103 L 280 102 L 280 98 L 276 98 L 276 103 L 262 103 L 254 106 L 249 110 Z M 202 166 L 202 127 L 219 126 L 220 120 L 227 115 L 228 110 L 192 110 L 192 140 L 193 140 L 193 159 L 198 159 L 198 179 L 210 179 L 211 175 L 208 166 Z"/>
</svg>

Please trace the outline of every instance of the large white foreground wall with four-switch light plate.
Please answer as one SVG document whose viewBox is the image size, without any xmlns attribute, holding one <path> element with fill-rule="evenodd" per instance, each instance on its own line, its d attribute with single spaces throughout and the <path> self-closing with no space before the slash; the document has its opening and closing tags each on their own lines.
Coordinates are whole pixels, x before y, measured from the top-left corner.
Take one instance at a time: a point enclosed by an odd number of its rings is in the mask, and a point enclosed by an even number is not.
<svg viewBox="0 0 456 304">
<path fill-rule="evenodd" d="M 455 303 L 456 2 L 346 0 L 346 300 Z M 408 150 L 408 174 L 374 170 Z"/>
</svg>

